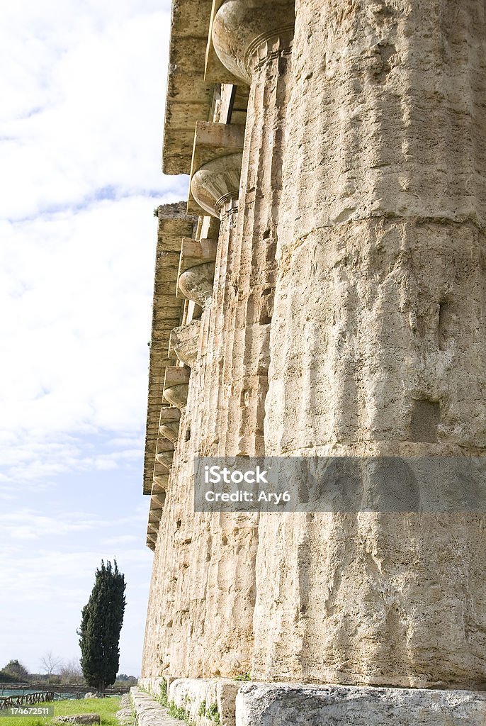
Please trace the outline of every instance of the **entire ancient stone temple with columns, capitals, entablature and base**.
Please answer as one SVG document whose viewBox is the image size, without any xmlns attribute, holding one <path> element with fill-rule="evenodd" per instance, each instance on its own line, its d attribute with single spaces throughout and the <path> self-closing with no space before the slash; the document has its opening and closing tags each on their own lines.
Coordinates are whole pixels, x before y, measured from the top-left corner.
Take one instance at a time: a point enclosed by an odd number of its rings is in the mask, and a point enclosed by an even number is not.
<svg viewBox="0 0 486 726">
<path fill-rule="evenodd" d="M 485 109 L 485 0 L 173 0 L 141 686 L 198 725 L 486 725 L 481 507 L 193 498 L 201 456 L 482 467 Z"/>
</svg>

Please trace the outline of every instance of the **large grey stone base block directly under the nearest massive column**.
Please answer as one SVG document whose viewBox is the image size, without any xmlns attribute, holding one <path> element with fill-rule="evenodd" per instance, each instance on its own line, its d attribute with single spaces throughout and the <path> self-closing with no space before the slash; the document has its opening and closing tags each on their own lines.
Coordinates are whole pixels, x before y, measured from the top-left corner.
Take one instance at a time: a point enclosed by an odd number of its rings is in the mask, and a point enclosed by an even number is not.
<svg viewBox="0 0 486 726">
<path fill-rule="evenodd" d="M 236 726 L 485 726 L 486 694 L 467 690 L 249 683 Z"/>
</svg>

